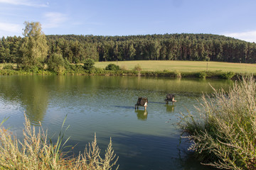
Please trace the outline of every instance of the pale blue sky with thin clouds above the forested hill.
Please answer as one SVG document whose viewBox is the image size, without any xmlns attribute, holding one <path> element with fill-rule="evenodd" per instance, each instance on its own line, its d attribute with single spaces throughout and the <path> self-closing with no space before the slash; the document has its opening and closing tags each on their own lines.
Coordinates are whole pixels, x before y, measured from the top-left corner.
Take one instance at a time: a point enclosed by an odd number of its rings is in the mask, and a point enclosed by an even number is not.
<svg viewBox="0 0 256 170">
<path fill-rule="evenodd" d="M 256 42 L 255 0 L 0 0 L 0 37 L 211 33 Z"/>
</svg>

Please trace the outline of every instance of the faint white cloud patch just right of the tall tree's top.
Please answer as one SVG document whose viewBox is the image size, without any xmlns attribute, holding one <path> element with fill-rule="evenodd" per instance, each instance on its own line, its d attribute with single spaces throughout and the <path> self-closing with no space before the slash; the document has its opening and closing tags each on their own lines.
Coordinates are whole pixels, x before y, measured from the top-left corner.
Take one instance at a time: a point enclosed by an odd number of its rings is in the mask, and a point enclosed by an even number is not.
<svg viewBox="0 0 256 170">
<path fill-rule="evenodd" d="M 68 21 L 68 16 L 63 13 L 49 12 L 43 16 L 46 18 L 46 21 L 43 23 L 44 28 L 58 28 L 62 23 Z"/>
</svg>

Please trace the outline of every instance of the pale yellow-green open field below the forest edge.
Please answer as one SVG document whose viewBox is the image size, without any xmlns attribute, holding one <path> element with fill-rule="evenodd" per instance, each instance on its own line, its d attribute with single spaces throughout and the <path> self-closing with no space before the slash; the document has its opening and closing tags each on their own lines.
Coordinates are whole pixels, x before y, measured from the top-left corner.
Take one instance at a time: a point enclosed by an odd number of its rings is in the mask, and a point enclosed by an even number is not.
<svg viewBox="0 0 256 170">
<path fill-rule="evenodd" d="M 122 69 L 133 69 L 139 64 L 142 71 L 170 72 L 198 72 L 198 71 L 221 71 L 235 73 L 256 74 L 256 64 L 230 63 L 230 62 L 193 62 L 193 61 L 125 61 L 125 62 L 96 62 L 95 67 L 105 68 L 107 64 L 117 64 Z"/>
</svg>

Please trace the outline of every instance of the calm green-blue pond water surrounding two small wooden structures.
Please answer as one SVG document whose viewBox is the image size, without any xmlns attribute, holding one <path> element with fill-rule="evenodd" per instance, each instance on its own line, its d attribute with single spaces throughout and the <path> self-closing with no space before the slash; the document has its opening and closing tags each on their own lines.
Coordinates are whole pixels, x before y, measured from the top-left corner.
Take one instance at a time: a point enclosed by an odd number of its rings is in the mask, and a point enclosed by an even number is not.
<svg viewBox="0 0 256 170">
<path fill-rule="evenodd" d="M 1 76 L 0 120 L 18 137 L 26 113 L 33 125 L 41 121 L 56 137 L 67 115 L 68 145 L 78 154 L 97 135 L 105 152 L 112 137 L 119 169 L 206 169 L 197 162 L 189 143 L 181 140 L 180 113 L 195 113 L 202 92 L 228 89 L 230 80 L 156 77 Z M 176 96 L 166 105 L 166 94 Z M 139 96 L 149 100 L 146 111 L 134 109 Z M 209 167 L 207 167 L 209 169 Z"/>
</svg>

